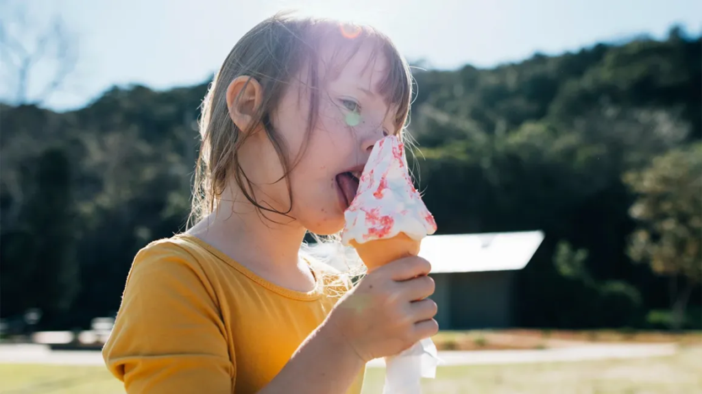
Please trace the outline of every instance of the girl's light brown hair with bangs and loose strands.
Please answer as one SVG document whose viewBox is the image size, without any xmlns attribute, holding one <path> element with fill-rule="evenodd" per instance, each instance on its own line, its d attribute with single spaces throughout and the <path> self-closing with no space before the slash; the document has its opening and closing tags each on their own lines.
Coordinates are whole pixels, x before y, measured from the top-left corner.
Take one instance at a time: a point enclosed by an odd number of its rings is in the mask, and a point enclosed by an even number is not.
<svg viewBox="0 0 702 394">
<path fill-rule="evenodd" d="M 388 104 L 397 108 L 395 133 L 401 133 L 409 118 L 412 79 L 409 65 L 387 36 L 367 26 L 343 25 L 328 19 L 295 18 L 290 13 L 279 13 L 260 22 L 234 45 L 208 88 L 201 105 L 199 131 L 201 146 L 195 170 L 192 211 L 189 224 L 214 212 L 225 191 L 227 182 L 234 179 L 243 196 L 260 214 L 274 212 L 288 215 L 292 208 L 292 193 L 288 175 L 296 165 L 286 153 L 283 139 L 270 122 L 270 114 L 277 108 L 284 89 L 292 79 L 307 67 L 310 92 L 310 113 L 307 114 L 307 134 L 314 128 L 319 108 L 319 48 L 333 40 L 335 58 L 329 66 L 343 67 L 364 43 L 373 44 L 371 62 L 383 55 L 388 62 L 388 74 L 379 89 Z M 337 59 L 340 54 L 345 59 Z M 338 72 L 337 69 L 331 70 Z M 260 84 L 263 100 L 251 122 L 251 128 L 260 127 L 276 149 L 286 182 L 290 208 L 284 212 L 274 210 L 256 201 L 253 184 L 239 164 L 239 149 L 251 130 L 239 130 L 230 119 L 227 109 L 227 87 L 235 78 L 249 76 Z M 309 138 L 305 138 L 308 141 Z M 304 154 L 301 150 L 299 158 Z M 332 237 L 333 238 L 333 237 Z M 317 238 L 319 239 L 319 238 Z"/>
</svg>

